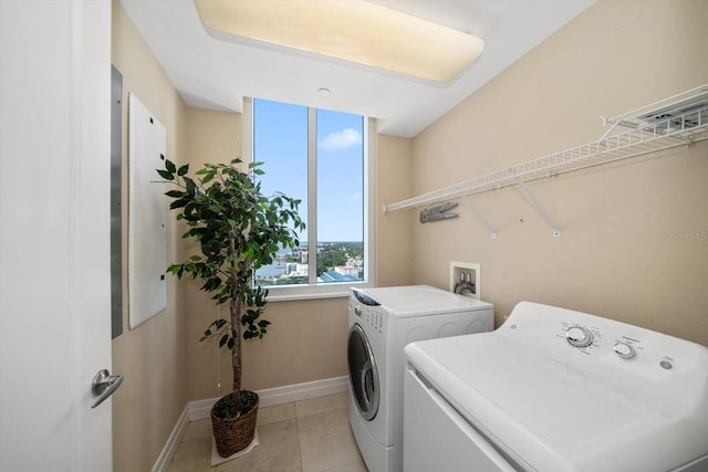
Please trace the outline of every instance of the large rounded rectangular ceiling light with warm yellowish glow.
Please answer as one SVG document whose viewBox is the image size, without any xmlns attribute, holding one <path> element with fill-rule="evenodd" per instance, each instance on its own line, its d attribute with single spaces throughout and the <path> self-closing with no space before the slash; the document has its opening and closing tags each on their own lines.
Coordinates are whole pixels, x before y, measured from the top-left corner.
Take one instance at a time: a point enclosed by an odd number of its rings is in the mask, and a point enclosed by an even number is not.
<svg viewBox="0 0 708 472">
<path fill-rule="evenodd" d="M 195 0 L 215 32 L 448 82 L 481 54 L 479 38 L 361 0 Z"/>
</svg>

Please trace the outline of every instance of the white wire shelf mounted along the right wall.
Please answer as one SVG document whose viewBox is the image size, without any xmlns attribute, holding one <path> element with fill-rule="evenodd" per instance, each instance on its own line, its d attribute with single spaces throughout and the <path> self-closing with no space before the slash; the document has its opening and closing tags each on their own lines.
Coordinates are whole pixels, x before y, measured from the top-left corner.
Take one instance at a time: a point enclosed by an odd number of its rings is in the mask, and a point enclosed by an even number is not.
<svg viewBox="0 0 708 472">
<path fill-rule="evenodd" d="M 652 112 L 646 109 L 654 104 L 638 108 L 631 112 L 643 111 L 634 118 L 626 118 L 624 115 L 611 119 L 603 118 L 612 126 L 597 141 L 386 204 L 383 208 L 384 212 L 455 200 L 708 139 L 708 85 L 656 103 L 663 103 L 664 106 Z M 616 133 L 620 126 L 629 129 Z"/>
</svg>

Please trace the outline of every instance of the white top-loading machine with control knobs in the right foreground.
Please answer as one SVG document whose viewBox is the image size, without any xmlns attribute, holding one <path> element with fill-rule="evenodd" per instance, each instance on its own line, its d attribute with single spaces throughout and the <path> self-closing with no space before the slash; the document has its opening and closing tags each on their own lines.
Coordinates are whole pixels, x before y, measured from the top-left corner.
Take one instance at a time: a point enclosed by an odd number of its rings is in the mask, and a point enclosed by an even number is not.
<svg viewBox="0 0 708 472">
<path fill-rule="evenodd" d="M 406 472 L 706 472 L 708 349 L 522 302 L 406 347 Z"/>
</svg>

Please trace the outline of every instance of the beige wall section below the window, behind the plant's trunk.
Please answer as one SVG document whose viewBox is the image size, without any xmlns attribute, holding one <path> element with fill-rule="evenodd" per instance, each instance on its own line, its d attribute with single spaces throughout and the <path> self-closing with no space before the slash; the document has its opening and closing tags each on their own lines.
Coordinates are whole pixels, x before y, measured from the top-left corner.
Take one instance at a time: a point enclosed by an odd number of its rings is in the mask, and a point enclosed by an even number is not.
<svg viewBox="0 0 708 472">
<path fill-rule="evenodd" d="M 190 305 L 201 305 L 205 313 L 216 312 L 206 294 L 197 298 Z M 268 335 L 243 343 L 243 388 L 261 390 L 345 376 L 346 303 L 346 298 L 270 302 L 263 315 L 272 323 Z M 221 310 L 221 315 L 228 316 L 228 307 Z M 215 343 L 197 340 L 214 318 L 198 316 L 200 321 L 190 324 L 189 335 L 190 400 L 231 391 L 228 352 L 217 354 Z"/>
</svg>

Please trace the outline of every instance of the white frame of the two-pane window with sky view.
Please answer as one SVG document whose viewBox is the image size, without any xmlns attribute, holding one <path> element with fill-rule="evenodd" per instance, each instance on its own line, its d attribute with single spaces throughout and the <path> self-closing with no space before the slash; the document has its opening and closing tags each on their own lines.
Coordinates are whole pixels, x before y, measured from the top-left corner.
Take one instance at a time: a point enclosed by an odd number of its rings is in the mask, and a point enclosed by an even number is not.
<svg viewBox="0 0 708 472">
<path fill-rule="evenodd" d="M 269 98 L 264 98 L 269 99 Z M 303 105 L 305 106 L 305 105 Z M 308 106 L 308 216 L 312 221 L 306 221 L 308 251 L 316 254 L 316 112 L 317 108 Z M 267 286 L 269 290 L 268 300 L 270 302 L 309 300 L 309 298 L 331 298 L 350 296 L 352 287 L 375 286 L 376 245 L 374 243 L 376 209 L 374 189 L 376 177 L 376 120 L 364 116 L 364 280 L 352 282 L 316 282 L 317 262 L 316 258 L 308 258 L 308 283 L 295 285 L 273 285 Z M 243 160 L 253 161 L 253 98 L 243 97 Z"/>
</svg>

